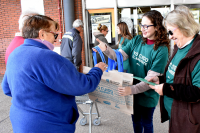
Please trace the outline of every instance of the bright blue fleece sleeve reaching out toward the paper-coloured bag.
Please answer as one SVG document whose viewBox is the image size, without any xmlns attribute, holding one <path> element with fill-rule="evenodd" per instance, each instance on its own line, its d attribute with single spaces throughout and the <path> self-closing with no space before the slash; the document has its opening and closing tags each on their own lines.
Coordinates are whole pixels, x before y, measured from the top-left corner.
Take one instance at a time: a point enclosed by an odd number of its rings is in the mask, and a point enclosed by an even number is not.
<svg viewBox="0 0 200 133">
<path fill-rule="evenodd" d="M 75 67 L 65 64 L 60 68 L 50 88 L 66 95 L 83 95 L 96 89 L 102 74 L 98 67 L 92 68 L 87 74 L 82 74 Z"/>
</svg>

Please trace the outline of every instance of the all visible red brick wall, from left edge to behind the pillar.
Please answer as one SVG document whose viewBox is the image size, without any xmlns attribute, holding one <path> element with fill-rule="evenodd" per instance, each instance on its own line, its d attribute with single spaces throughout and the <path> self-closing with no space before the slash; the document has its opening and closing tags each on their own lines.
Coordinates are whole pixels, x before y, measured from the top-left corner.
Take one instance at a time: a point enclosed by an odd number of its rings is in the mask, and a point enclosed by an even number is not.
<svg viewBox="0 0 200 133">
<path fill-rule="evenodd" d="M 44 0 L 44 10 L 45 15 L 56 20 L 59 24 L 61 23 L 61 32 L 62 28 L 62 19 L 59 18 L 59 6 L 58 1 L 61 0 Z M 5 73 L 5 52 L 15 37 L 15 33 L 19 32 L 18 29 L 18 19 L 21 14 L 21 3 L 20 0 L 1 0 L 1 10 L 0 10 L 0 76 L 3 76 Z M 62 8 L 62 7 L 61 7 Z M 60 17 L 61 9 L 60 9 Z M 82 19 L 82 3 L 81 0 L 75 0 L 75 19 Z M 83 33 L 81 33 L 83 40 Z M 61 34 L 58 36 L 58 40 L 61 39 Z M 84 40 L 83 40 L 84 42 Z M 55 46 L 60 46 L 60 42 L 57 41 Z M 84 44 L 82 51 L 83 65 L 85 65 L 85 53 L 84 53 Z M 82 67 L 81 67 L 82 68 Z M 82 69 L 81 69 L 82 70 Z"/>
</svg>

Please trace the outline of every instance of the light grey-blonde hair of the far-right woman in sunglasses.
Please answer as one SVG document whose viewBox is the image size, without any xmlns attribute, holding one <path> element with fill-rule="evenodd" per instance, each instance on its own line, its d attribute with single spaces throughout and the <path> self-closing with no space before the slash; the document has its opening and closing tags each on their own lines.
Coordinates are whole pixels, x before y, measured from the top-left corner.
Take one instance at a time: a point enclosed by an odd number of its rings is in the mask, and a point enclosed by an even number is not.
<svg viewBox="0 0 200 133">
<path fill-rule="evenodd" d="M 177 26 L 184 36 L 190 37 L 199 33 L 200 25 L 194 20 L 192 13 L 186 6 L 178 6 L 163 20 L 163 24 Z"/>
</svg>

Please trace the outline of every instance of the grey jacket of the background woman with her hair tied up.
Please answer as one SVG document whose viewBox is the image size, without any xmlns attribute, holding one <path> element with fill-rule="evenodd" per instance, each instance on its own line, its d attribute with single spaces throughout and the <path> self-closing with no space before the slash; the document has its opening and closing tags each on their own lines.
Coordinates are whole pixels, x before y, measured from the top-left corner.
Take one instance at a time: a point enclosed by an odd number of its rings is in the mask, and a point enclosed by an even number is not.
<svg viewBox="0 0 200 133">
<path fill-rule="evenodd" d="M 104 34 L 102 34 L 101 32 L 94 32 L 93 35 L 95 36 L 94 46 L 99 45 L 99 42 L 96 40 L 97 38 L 100 41 L 105 42 L 109 46 L 108 41 L 105 38 Z M 103 53 L 103 55 L 104 55 L 106 63 L 108 64 L 108 57 L 104 53 Z M 97 63 L 99 63 L 99 62 L 102 62 L 102 60 L 101 60 L 100 55 L 97 53 Z"/>
</svg>

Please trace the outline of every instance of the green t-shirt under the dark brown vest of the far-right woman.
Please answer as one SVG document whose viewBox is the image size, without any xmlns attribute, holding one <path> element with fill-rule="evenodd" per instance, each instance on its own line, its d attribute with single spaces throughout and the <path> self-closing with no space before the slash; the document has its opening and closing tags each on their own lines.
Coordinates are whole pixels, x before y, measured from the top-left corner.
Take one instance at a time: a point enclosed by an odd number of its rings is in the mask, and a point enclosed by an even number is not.
<svg viewBox="0 0 200 133">
<path fill-rule="evenodd" d="M 192 47 L 193 42 L 194 42 L 194 39 L 186 47 L 182 49 L 178 49 L 176 55 L 173 57 L 172 61 L 170 62 L 168 66 L 168 70 L 166 72 L 166 83 L 169 83 L 169 84 L 173 83 L 176 68 L 179 62 L 186 56 L 186 54 Z M 200 77 L 200 61 L 197 62 L 197 64 L 194 67 L 194 70 L 191 73 L 192 84 L 197 87 L 200 87 L 199 77 Z M 171 117 L 172 103 L 173 103 L 173 98 L 164 96 L 164 106 L 168 112 L 169 118 Z"/>
</svg>

